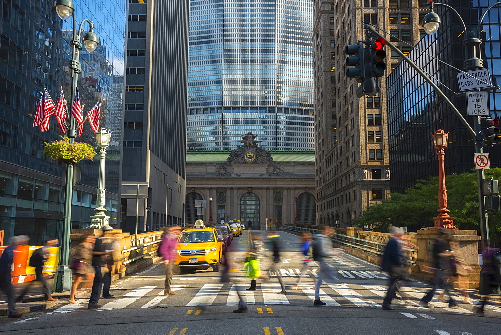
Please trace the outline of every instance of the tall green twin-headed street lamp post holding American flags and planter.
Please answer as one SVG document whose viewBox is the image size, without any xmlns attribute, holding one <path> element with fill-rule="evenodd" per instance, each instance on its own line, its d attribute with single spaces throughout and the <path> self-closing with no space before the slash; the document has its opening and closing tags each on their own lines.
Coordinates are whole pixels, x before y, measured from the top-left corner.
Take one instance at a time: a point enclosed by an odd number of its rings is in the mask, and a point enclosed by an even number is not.
<svg viewBox="0 0 501 335">
<path fill-rule="evenodd" d="M 80 50 L 82 50 L 82 43 L 80 42 L 80 36 L 82 34 L 82 28 L 85 22 L 89 24 L 89 31 L 85 34 L 83 42 L 84 47 L 88 52 L 94 51 L 98 44 L 99 38 L 93 32 L 94 23 L 87 19 L 80 22 L 78 27 L 78 32 L 75 22 L 75 6 L 72 0 L 56 0 L 54 3 L 57 15 L 63 19 L 67 20 L 70 16 L 73 19 L 73 39 L 70 41 L 72 47 L 72 58 L 68 64 L 68 68 L 71 71 L 71 101 L 75 100 L 75 94 L 77 90 L 77 80 L 78 74 L 81 72 L 80 66 Z M 70 139 L 70 143 L 75 142 L 77 137 L 77 122 L 75 118 L 68 113 L 68 133 L 67 136 Z M 68 261 L 70 258 L 70 232 L 71 232 L 71 203 L 73 196 L 73 165 L 67 164 L 66 166 L 66 178 L 65 178 L 65 203 L 64 203 L 64 222 L 63 222 L 63 236 L 59 255 L 58 269 L 54 277 L 54 291 L 64 292 L 69 291 L 72 284 L 71 271 L 68 268 Z"/>
</svg>

